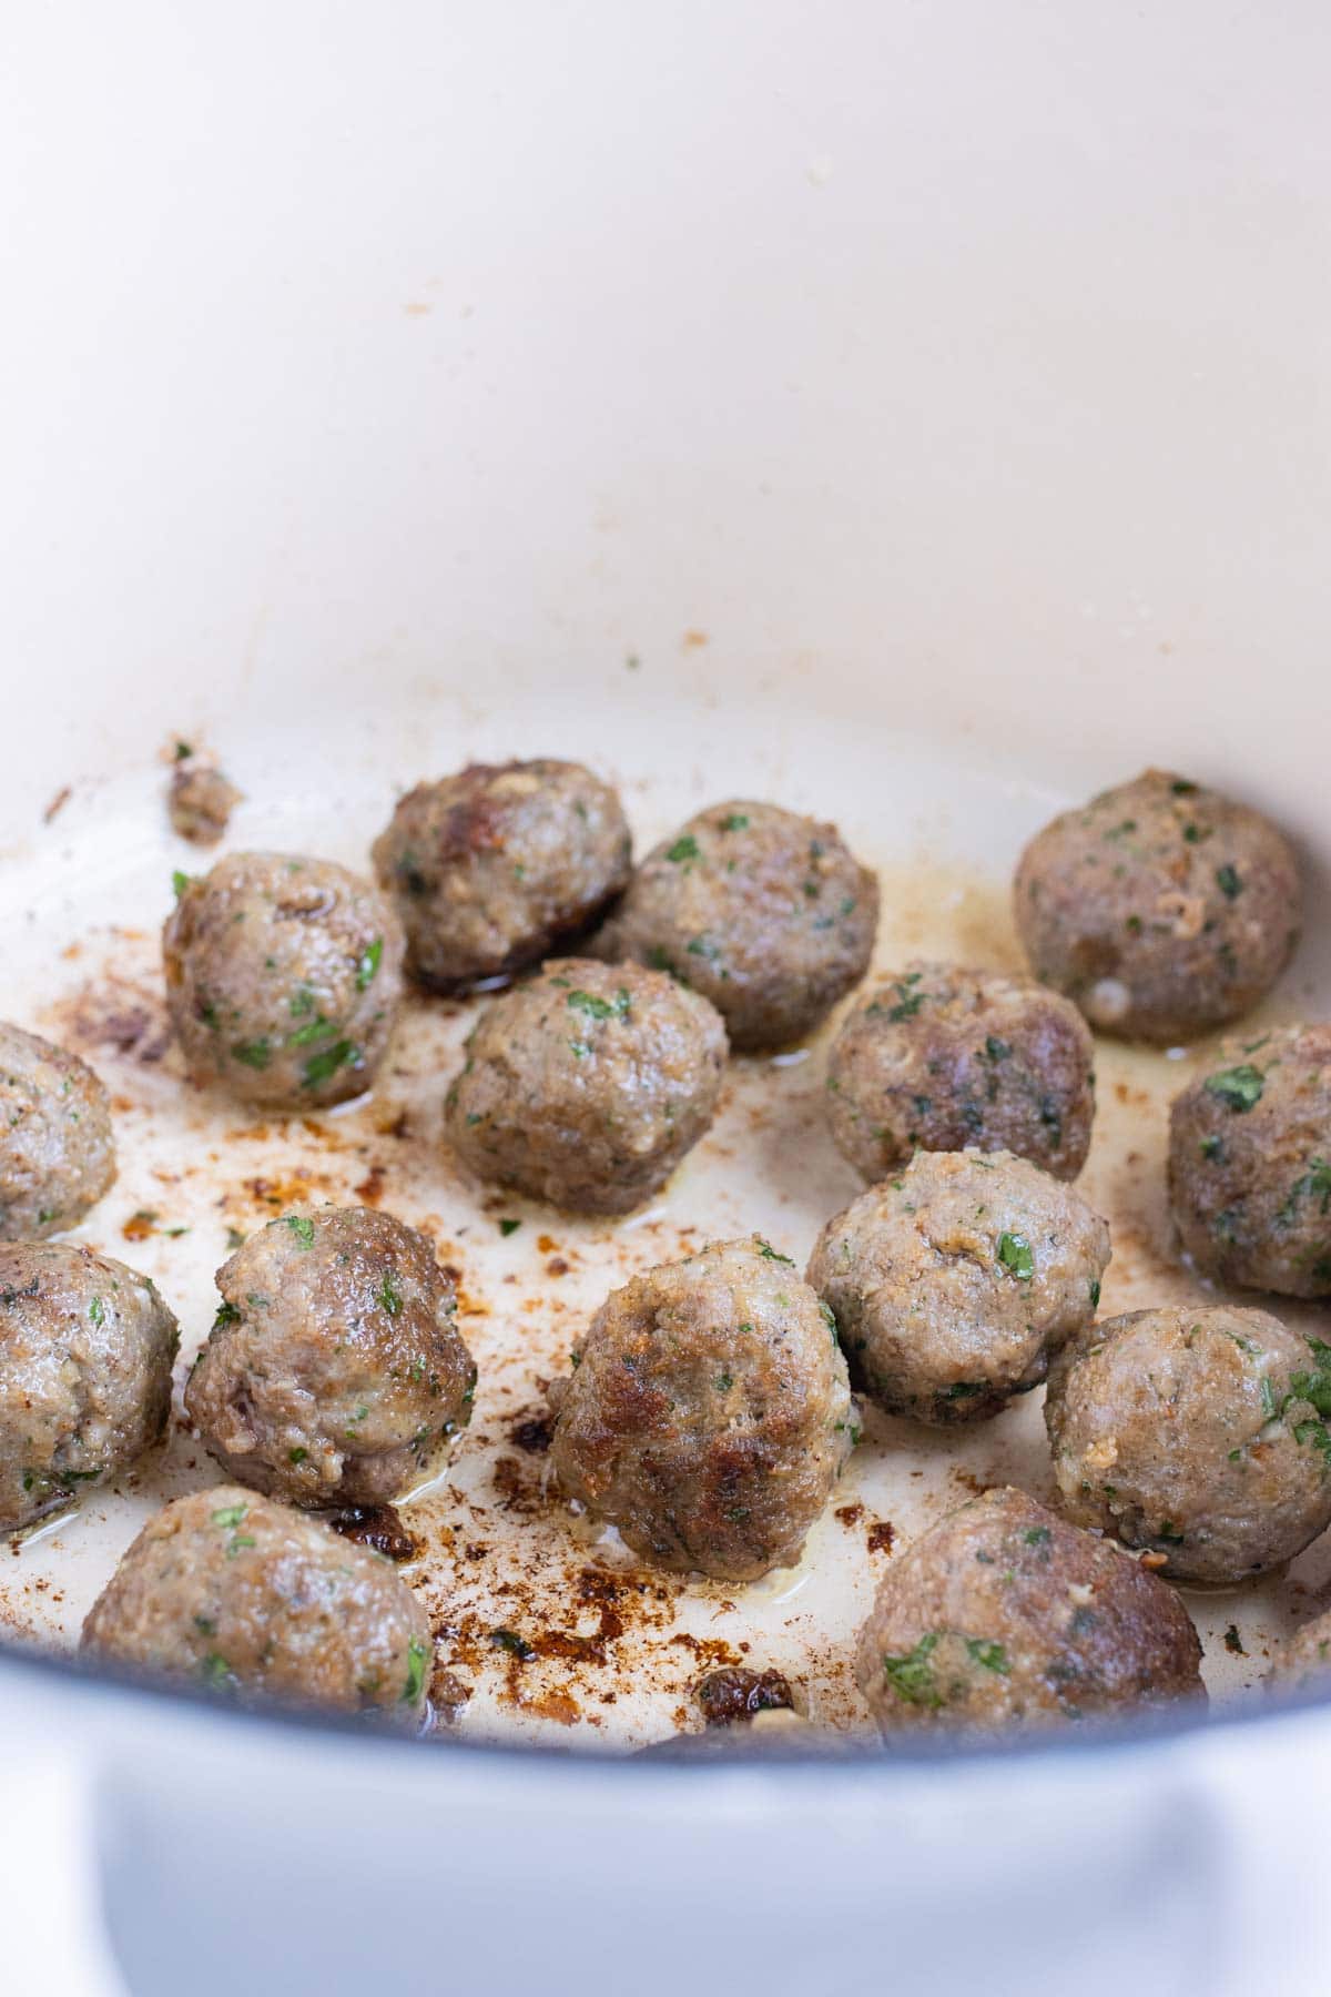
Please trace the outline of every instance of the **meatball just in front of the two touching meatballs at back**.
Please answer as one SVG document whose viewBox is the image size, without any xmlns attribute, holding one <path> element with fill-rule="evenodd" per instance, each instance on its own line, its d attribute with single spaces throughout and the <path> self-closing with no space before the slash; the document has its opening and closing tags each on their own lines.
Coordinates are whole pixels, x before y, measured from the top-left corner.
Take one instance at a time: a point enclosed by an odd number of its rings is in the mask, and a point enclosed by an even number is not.
<svg viewBox="0 0 1331 1997">
<path fill-rule="evenodd" d="M 625 1214 L 708 1128 L 726 1030 L 661 971 L 555 957 L 495 998 L 445 1098 L 481 1178 L 583 1214 Z"/>
</svg>

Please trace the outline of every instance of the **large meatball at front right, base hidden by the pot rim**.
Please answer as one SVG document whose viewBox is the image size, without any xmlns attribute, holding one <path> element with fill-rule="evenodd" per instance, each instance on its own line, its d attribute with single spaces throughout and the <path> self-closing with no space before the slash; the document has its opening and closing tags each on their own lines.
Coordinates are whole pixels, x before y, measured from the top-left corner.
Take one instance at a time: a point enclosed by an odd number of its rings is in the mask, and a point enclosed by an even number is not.
<svg viewBox="0 0 1331 1997">
<path fill-rule="evenodd" d="M 1171 1588 L 1000 1488 L 896 1556 L 856 1675 L 884 1733 L 992 1733 L 1199 1697 L 1199 1664 Z"/>
</svg>

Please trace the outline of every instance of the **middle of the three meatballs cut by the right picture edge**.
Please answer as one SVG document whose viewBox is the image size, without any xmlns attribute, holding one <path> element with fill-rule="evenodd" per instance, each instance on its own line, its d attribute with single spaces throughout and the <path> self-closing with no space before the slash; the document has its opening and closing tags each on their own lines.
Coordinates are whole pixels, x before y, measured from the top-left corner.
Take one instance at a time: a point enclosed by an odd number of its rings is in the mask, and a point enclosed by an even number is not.
<svg viewBox="0 0 1331 1997">
<path fill-rule="evenodd" d="M 1227 1586 L 1293 1560 L 1331 1524 L 1331 1348 L 1265 1310 L 1133 1310 L 1050 1368 L 1064 1510 Z"/>
</svg>

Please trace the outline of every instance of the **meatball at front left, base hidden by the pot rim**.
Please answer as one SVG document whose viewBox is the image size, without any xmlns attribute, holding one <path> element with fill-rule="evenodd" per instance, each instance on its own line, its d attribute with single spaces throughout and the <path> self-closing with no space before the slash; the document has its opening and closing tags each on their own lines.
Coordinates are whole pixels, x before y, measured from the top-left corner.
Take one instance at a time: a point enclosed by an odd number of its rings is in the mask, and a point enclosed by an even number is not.
<svg viewBox="0 0 1331 1997">
<path fill-rule="evenodd" d="M 425 1610 L 387 1560 L 233 1484 L 144 1526 L 82 1648 L 210 1691 L 403 1719 L 433 1667 Z"/>
</svg>

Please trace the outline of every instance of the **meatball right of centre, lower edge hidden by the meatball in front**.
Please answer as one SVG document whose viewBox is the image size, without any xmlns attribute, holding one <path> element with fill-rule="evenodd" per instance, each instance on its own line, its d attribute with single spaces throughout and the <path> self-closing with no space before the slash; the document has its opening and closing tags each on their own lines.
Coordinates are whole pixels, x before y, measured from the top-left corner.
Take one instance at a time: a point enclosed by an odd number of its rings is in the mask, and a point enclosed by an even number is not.
<svg viewBox="0 0 1331 1997">
<path fill-rule="evenodd" d="M 832 1136 L 864 1178 L 968 1146 L 1076 1178 L 1094 1114 L 1086 1020 L 1030 979 L 912 963 L 860 1000 L 828 1060 Z"/>
</svg>

